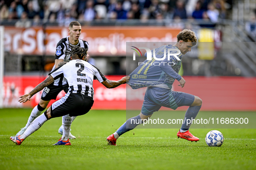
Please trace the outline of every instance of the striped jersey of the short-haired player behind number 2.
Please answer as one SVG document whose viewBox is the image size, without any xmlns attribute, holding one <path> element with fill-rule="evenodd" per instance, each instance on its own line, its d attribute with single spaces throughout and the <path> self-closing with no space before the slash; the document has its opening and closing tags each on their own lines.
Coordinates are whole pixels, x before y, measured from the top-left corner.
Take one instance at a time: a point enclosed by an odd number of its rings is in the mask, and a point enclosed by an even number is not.
<svg viewBox="0 0 256 170">
<path fill-rule="evenodd" d="M 69 37 L 69 36 L 68 36 Z M 69 62 L 70 61 L 70 54 L 66 55 L 65 52 L 67 50 L 67 44 L 69 44 L 69 41 L 68 41 L 68 37 L 65 37 L 65 38 L 62 38 L 57 46 L 56 46 L 56 53 L 55 53 L 55 59 L 63 59 L 64 61 L 66 62 Z M 74 46 L 78 46 L 78 47 L 83 47 L 83 48 L 87 48 L 89 49 L 89 44 L 87 41 L 84 41 L 84 40 L 81 40 L 81 39 L 78 39 L 79 42 L 78 44 L 74 45 Z M 72 44 L 71 44 L 72 45 Z M 52 71 L 56 69 L 55 65 L 52 67 Z M 63 79 L 63 77 L 60 77 L 59 79 L 56 79 L 54 82 L 53 82 L 53 85 L 55 86 L 59 86 L 59 85 L 66 85 L 67 82 L 65 79 Z"/>
</svg>

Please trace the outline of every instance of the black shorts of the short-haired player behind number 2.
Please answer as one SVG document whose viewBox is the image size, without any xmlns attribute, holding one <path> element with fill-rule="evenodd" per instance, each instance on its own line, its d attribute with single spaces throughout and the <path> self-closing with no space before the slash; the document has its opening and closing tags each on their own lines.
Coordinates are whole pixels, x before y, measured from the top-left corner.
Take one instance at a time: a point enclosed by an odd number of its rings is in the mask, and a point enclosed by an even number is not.
<svg viewBox="0 0 256 170">
<path fill-rule="evenodd" d="M 68 84 L 60 85 L 60 86 L 53 85 L 53 84 L 54 82 L 44 88 L 41 96 L 42 100 L 44 101 L 50 101 L 52 99 L 55 100 L 59 92 L 61 92 L 62 90 L 64 90 L 65 93 L 68 93 Z"/>
</svg>

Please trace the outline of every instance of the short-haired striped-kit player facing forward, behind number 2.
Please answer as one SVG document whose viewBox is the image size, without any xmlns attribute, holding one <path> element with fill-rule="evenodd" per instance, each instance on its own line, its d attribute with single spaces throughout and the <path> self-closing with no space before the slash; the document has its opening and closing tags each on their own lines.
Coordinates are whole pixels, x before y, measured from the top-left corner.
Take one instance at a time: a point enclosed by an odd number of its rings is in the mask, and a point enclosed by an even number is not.
<svg viewBox="0 0 256 170">
<path fill-rule="evenodd" d="M 56 47 L 56 53 L 55 53 L 55 65 L 52 68 L 52 71 L 55 68 L 58 68 L 59 66 L 62 66 L 64 63 L 69 62 L 70 59 L 70 54 L 65 54 L 66 50 L 67 50 L 67 44 L 71 44 L 74 46 L 78 46 L 78 47 L 83 47 L 83 48 L 87 48 L 89 47 L 87 41 L 83 41 L 81 39 L 79 39 L 80 35 L 81 35 L 81 25 L 79 22 L 77 21 L 72 21 L 69 24 L 68 27 L 68 33 L 69 36 L 62 38 Z M 32 110 L 28 122 L 26 124 L 25 127 L 23 127 L 17 134 L 16 136 L 22 135 L 23 132 L 25 132 L 25 130 L 29 127 L 30 123 L 32 123 L 33 120 L 36 119 L 36 117 L 38 117 L 43 110 L 45 110 L 45 108 L 47 107 L 49 101 L 51 101 L 52 99 L 55 100 L 57 98 L 57 95 L 59 94 L 60 91 L 64 90 L 65 93 L 68 92 L 68 83 L 66 82 L 66 80 L 63 78 L 63 76 L 59 77 L 58 79 L 54 80 L 54 82 L 52 82 L 52 84 L 49 84 L 47 87 L 45 87 L 45 89 L 42 92 L 42 97 L 39 101 L 39 104 L 34 107 L 34 109 Z M 67 118 L 62 118 L 62 119 L 67 119 Z M 75 120 L 75 116 L 73 116 L 72 121 Z M 61 126 L 58 130 L 58 132 L 62 135 L 63 134 L 63 126 Z M 72 135 L 71 133 L 69 134 L 70 139 L 76 139 L 74 135 Z"/>
</svg>

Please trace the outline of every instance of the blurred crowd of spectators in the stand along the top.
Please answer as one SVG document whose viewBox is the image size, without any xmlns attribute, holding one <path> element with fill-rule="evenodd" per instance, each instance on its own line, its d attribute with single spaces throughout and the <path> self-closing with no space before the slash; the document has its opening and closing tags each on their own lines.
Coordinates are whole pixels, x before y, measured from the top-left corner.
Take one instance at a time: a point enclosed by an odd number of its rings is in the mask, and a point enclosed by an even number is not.
<svg viewBox="0 0 256 170">
<path fill-rule="evenodd" d="M 1 0 L 0 20 L 227 19 L 232 0 Z"/>
</svg>

